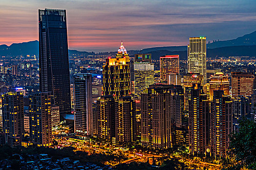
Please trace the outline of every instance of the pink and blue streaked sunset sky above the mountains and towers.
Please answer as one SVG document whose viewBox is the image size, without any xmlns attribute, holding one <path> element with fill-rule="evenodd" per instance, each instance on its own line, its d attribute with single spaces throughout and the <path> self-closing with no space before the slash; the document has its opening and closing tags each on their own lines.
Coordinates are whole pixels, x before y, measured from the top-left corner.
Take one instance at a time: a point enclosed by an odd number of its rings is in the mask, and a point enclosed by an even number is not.
<svg viewBox="0 0 256 170">
<path fill-rule="evenodd" d="M 256 0 L 0 0 L 0 44 L 38 40 L 38 9 L 66 9 L 69 49 L 117 51 L 256 31 Z"/>
</svg>

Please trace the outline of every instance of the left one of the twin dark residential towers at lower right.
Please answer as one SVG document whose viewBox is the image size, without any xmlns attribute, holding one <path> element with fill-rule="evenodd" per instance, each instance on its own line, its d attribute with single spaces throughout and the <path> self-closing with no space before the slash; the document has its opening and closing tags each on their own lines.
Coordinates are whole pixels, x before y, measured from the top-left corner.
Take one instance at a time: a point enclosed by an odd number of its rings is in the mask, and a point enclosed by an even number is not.
<svg viewBox="0 0 256 170">
<path fill-rule="evenodd" d="M 211 149 L 210 124 L 210 100 L 199 84 L 193 84 L 189 101 L 189 149 L 193 154 Z"/>
</svg>

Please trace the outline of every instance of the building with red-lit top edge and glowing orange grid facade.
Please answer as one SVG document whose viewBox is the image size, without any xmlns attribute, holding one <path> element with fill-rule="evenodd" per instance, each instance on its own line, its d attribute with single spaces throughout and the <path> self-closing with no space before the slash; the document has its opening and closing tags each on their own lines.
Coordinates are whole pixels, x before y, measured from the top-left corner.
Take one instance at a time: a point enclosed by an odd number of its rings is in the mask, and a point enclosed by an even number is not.
<svg viewBox="0 0 256 170">
<path fill-rule="evenodd" d="M 180 73 L 179 55 L 165 55 L 160 57 L 160 79 L 167 81 L 170 73 Z"/>
</svg>

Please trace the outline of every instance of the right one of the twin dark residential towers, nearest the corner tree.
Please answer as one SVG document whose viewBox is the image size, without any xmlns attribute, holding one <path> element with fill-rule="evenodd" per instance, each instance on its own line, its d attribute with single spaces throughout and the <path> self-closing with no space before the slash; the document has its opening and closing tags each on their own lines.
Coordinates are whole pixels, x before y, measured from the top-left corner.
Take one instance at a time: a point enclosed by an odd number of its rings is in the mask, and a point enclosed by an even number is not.
<svg viewBox="0 0 256 170">
<path fill-rule="evenodd" d="M 211 102 L 211 145 L 215 158 L 223 158 L 228 153 L 229 137 L 232 132 L 232 101 L 223 90 L 213 92 Z"/>
</svg>

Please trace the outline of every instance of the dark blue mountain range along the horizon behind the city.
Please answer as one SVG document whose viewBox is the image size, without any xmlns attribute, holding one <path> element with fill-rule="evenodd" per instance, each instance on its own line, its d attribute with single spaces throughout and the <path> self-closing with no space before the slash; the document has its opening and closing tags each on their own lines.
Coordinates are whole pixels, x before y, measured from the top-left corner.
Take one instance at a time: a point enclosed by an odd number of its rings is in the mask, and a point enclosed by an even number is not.
<svg viewBox="0 0 256 170">
<path fill-rule="evenodd" d="M 69 55 L 94 55 L 87 51 L 68 50 Z M 143 50 L 128 51 L 130 56 L 135 53 L 151 53 L 153 59 L 162 55 L 179 54 L 180 59 L 187 59 L 187 46 L 154 47 Z M 115 54 L 116 52 L 104 52 Z M 0 56 L 39 55 L 39 42 L 30 41 L 14 43 L 10 46 L 0 45 Z M 216 56 L 256 56 L 256 31 L 232 40 L 216 41 L 207 44 L 207 57 Z"/>
</svg>

